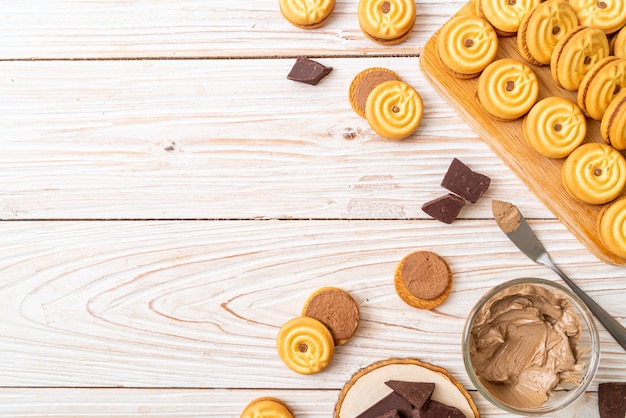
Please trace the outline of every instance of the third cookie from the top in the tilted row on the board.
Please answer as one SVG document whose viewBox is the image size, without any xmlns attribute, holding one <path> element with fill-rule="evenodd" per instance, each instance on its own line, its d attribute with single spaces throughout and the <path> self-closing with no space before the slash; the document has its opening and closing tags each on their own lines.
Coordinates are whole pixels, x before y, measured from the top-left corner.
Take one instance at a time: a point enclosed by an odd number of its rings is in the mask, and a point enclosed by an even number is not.
<svg viewBox="0 0 626 418">
<path fill-rule="evenodd" d="M 585 74 L 578 87 L 578 106 L 589 117 L 601 120 L 615 96 L 626 89 L 626 58 L 608 56 Z"/>
</svg>

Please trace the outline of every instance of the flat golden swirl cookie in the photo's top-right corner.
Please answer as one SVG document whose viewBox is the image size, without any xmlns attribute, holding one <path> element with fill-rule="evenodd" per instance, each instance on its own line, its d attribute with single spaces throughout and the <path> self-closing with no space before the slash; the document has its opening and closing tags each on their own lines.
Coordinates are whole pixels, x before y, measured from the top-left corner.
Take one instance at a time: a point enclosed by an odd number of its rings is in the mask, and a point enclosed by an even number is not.
<svg viewBox="0 0 626 418">
<path fill-rule="evenodd" d="M 569 0 L 583 26 L 613 33 L 626 24 L 626 0 Z"/>
</svg>

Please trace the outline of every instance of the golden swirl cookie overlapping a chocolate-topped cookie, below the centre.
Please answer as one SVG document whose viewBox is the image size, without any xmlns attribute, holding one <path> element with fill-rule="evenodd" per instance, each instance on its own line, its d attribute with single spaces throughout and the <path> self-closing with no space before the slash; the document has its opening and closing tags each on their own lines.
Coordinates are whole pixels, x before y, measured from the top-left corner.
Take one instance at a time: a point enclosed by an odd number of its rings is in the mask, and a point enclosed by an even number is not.
<svg viewBox="0 0 626 418">
<path fill-rule="evenodd" d="M 300 374 L 321 372 L 335 354 L 335 343 L 328 328 L 306 316 L 293 318 L 281 327 L 276 348 L 283 363 Z"/>
</svg>

